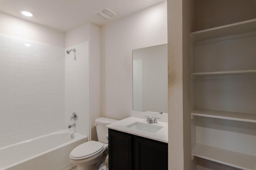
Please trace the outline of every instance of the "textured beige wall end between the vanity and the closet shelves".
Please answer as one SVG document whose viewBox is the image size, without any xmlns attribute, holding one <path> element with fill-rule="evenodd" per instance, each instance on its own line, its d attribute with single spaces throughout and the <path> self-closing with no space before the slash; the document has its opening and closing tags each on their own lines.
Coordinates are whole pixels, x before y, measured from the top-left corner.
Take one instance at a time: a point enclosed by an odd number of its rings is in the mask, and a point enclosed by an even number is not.
<svg viewBox="0 0 256 170">
<path fill-rule="evenodd" d="M 168 0 L 168 167 L 193 170 L 190 118 L 190 31 L 193 0 Z"/>
</svg>

